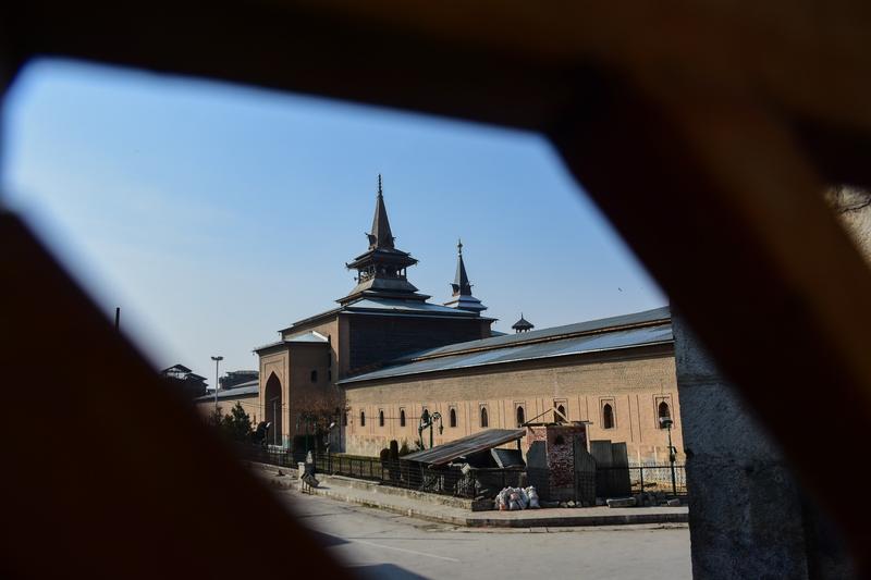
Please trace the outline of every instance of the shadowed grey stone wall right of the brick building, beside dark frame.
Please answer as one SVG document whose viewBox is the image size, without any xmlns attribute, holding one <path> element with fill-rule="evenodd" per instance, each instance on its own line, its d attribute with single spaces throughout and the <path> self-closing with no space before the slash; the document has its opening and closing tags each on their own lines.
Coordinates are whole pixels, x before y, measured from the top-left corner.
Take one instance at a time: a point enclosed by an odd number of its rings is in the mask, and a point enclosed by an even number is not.
<svg viewBox="0 0 871 580">
<path fill-rule="evenodd" d="M 694 578 L 808 578 L 800 496 L 781 454 L 679 316 L 672 323 Z"/>
</svg>

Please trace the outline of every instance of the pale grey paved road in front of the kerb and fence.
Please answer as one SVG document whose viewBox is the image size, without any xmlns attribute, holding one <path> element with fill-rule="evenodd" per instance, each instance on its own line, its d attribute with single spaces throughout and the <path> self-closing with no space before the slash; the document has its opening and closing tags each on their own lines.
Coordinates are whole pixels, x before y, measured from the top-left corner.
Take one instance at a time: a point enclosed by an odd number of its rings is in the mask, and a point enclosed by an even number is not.
<svg viewBox="0 0 871 580">
<path fill-rule="evenodd" d="M 282 492 L 338 558 L 369 578 L 689 579 L 686 526 L 469 530 Z"/>
</svg>

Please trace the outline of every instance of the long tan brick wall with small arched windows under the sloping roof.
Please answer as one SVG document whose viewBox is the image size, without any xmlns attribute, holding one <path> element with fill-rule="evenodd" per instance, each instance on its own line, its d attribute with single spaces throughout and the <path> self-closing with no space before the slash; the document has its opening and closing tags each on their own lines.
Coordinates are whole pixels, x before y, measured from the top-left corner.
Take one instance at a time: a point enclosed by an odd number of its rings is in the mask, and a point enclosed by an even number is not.
<svg viewBox="0 0 871 580">
<path fill-rule="evenodd" d="M 348 386 L 346 451 L 378 455 L 390 440 L 412 445 L 419 418 L 439 411 L 444 432 L 437 445 L 481 429 L 481 409 L 488 427 L 514 428 L 517 408 L 527 420 L 563 405 L 573 421 L 590 421 L 590 440 L 626 442 L 634 461 L 667 461 L 667 432 L 660 428 L 658 408 L 665 402 L 674 419 L 672 439 L 683 452 L 675 385 L 673 347 L 657 346 L 610 355 L 582 355 L 573 360 L 530 360 L 417 377 L 397 377 Z M 603 425 L 602 408 L 612 405 L 614 424 Z M 456 427 L 451 427 L 451 410 Z M 383 411 L 384 424 L 380 424 Z M 405 425 L 401 424 L 404 412 Z M 361 415 L 366 424 L 360 424 Z M 549 415 L 551 415 L 549 412 Z M 427 435 L 428 437 L 428 435 Z"/>
</svg>

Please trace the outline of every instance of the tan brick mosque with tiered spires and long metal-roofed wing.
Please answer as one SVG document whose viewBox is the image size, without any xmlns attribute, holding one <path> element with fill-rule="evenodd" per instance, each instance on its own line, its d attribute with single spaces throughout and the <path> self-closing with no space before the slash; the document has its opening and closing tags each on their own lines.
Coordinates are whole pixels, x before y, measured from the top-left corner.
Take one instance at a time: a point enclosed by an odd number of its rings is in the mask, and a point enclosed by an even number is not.
<svg viewBox="0 0 871 580">
<path fill-rule="evenodd" d="M 565 417 L 587 422 L 590 440 L 625 442 L 633 462 L 663 461 L 670 422 L 660 419 L 670 418 L 683 455 L 667 307 L 540 330 L 522 313 L 514 334 L 498 333 L 473 295 L 462 243 L 447 301 L 409 282 L 417 260 L 395 246 L 380 176 L 367 236 L 368 249 L 345 264 L 356 286 L 338 306 L 255 349 L 254 419 L 272 424 L 270 444 L 290 446 L 308 416 L 329 409 L 333 449 L 368 456 L 391 440 L 413 446 L 421 417 L 436 412 L 436 445 Z M 234 397 L 221 400 L 228 411 Z"/>
</svg>

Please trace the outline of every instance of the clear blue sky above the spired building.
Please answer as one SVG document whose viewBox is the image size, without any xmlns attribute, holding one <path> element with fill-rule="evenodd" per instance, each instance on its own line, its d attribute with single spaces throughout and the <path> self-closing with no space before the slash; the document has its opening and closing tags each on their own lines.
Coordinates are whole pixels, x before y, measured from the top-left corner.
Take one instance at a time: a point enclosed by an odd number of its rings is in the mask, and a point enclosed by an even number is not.
<svg viewBox="0 0 871 580">
<path fill-rule="evenodd" d="M 535 134 L 63 61 L 30 65 L 7 102 L 7 203 L 156 367 L 256 369 L 253 347 L 335 306 L 379 172 L 433 301 L 462 237 L 498 330 L 666 303 Z"/>
</svg>

